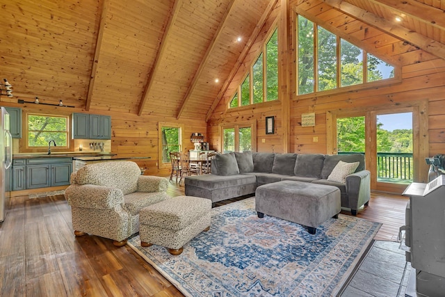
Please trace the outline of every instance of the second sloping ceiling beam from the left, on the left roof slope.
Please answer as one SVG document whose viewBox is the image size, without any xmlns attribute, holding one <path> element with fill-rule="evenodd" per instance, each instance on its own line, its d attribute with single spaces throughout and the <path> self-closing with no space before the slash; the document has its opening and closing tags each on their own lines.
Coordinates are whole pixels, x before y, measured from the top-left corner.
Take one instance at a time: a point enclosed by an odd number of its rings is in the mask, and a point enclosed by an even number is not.
<svg viewBox="0 0 445 297">
<path fill-rule="evenodd" d="M 175 24 L 175 20 L 178 15 L 177 12 L 179 10 L 179 7 L 181 7 L 181 2 L 182 0 L 175 0 L 175 3 L 173 3 L 172 10 L 170 11 L 170 17 L 168 17 L 167 26 L 165 26 L 165 31 L 162 36 L 161 44 L 159 45 L 158 53 L 156 54 L 156 58 L 154 58 L 152 71 L 148 76 L 147 85 L 145 86 L 144 93 L 142 95 L 142 100 L 140 101 L 139 104 L 138 115 L 142 115 L 144 106 L 145 104 L 147 104 L 150 89 L 152 88 L 153 84 L 153 79 L 154 77 L 156 77 L 156 73 L 159 70 L 161 58 L 165 54 L 165 45 L 167 44 L 168 38 L 170 37 L 170 34 L 172 32 L 170 28 L 173 26 L 173 24 Z"/>
</svg>

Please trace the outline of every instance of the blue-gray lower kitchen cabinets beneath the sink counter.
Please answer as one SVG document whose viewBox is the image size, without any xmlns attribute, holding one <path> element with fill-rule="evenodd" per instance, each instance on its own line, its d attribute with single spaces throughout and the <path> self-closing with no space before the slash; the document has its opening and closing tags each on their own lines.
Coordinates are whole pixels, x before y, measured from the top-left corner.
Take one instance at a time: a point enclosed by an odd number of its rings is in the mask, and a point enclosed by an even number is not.
<svg viewBox="0 0 445 297">
<path fill-rule="evenodd" d="M 71 172 L 72 158 L 17 159 L 13 162 L 13 191 L 64 186 L 70 184 Z"/>
</svg>

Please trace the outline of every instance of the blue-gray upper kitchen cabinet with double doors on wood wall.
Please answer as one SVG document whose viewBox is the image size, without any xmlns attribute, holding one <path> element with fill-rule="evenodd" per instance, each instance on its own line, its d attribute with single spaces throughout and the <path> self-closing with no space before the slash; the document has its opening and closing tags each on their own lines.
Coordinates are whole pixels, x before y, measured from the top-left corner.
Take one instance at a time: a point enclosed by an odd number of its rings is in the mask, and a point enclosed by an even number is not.
<svg viewBox="0 0 445 297">
<path fill-rule="evenodd" d="M 73 113 L 72 138 L 111 139 L 111 117 L 109 115 Z"/>
</svg>

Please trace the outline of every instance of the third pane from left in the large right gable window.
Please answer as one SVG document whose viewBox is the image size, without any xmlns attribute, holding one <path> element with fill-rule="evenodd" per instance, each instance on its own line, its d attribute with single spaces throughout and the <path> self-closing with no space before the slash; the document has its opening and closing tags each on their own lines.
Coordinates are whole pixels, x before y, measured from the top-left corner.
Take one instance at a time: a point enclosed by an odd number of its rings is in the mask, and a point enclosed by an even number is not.
<svg viewBox="0 0 445 297">
<path fill-rule="evenodd" d="M 341 86 L 363 83 L 363 50 L 341 40 Z"/>
</svg>

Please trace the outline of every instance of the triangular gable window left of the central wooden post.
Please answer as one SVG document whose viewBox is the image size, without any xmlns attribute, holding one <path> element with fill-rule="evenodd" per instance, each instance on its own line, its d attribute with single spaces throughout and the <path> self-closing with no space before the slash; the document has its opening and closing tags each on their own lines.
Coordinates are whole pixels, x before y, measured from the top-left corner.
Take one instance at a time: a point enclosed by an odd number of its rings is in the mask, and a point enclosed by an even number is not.
<svg viewBox="0 0 445 297">
<path fill-rule="evenodd" d="M 267 38 L 263 50 L 250 67 L 229 102 L 229 109 L 278 99 L 278 30 Z"/>
</svg>

